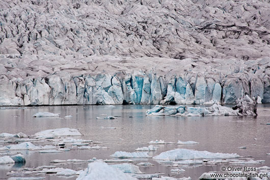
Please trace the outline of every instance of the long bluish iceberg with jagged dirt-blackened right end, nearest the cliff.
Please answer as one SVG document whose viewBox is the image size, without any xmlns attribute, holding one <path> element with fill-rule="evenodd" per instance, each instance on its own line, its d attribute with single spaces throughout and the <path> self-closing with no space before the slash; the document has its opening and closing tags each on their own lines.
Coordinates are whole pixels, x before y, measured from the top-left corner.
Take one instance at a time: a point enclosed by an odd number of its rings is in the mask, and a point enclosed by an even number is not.
<svg viewBox="0 0 270 180">
<path fill-rule="evenodd" d="M 255 116 L 257 107 L 255 98 L 248 95 L 236 100 L 235 107 L 228 108 L 218 104 L 211 107 L 188 107 L 188 106 L 160 106 L 156 105 L 153 109 L 146 111 L 146 116 Z"/>
</svg>

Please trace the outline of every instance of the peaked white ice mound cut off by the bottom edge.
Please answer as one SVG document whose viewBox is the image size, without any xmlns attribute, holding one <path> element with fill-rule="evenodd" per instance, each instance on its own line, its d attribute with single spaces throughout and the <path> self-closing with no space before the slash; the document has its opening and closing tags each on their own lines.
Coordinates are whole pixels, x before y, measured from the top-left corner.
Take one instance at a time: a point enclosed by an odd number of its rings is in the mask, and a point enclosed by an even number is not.
<svg viewBox="0 0 270 180">
<path fill-rule="evenodd" d="M 94 162 L 88 164 L 88 167 L 84 171 L 81 171 L 78 178 L 76 178 L 76 180 L 89 179 L 137 180 L 128 173 L 124 173 L 119 169 L 103 162 Z"/>
</svg>

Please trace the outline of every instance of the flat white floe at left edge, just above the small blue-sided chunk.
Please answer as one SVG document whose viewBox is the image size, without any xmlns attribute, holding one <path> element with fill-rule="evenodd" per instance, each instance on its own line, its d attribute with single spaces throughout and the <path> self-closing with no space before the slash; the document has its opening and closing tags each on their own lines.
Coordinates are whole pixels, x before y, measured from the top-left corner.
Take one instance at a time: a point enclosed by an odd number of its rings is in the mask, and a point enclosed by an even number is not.
<svg viewBox="0 0 270 180">
<path fill-rule="evenodd" d="M 55 149 L 55 147 L 51 145 L 37 146 L 32 144 L 31 142 L 23 142 L 20 144 L 13 144 L 0 147 L 0 150 L 42 150 L 42 149 Z"/>
</svg>

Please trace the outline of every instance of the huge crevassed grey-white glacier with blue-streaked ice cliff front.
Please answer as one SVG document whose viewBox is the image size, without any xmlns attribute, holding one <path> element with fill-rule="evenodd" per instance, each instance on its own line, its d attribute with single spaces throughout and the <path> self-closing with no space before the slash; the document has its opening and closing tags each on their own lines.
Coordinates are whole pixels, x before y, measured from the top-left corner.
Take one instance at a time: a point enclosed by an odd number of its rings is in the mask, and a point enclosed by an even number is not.
<svg viewBox="0 0 270 180">
<path fill-rule="evenodd" d="M 0 106 L 270 102 L 268 0 L 0 9 Z"/>
</svg>

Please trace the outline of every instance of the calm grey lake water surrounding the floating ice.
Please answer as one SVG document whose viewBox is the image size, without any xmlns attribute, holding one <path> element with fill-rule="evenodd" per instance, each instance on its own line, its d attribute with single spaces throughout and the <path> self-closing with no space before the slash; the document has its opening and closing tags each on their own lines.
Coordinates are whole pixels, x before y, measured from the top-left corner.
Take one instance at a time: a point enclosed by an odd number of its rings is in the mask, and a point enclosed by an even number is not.
<svg viewBox="0 0 270 180">
<path fill-rule="evenodd" d="M 2 107 L 0 109 L 0 133 L 16 134 L 22 132 L 27 135 L 33 135 L 52 128 L 76 128 L 84 134 L 84 136 L 76 138 L 101 141 L 103 143 L 99 145 L 107 146 L 109 149 L 71 150 L 62 153 L 44 154 L 34 151 L 21 151 L 25 156 L 26 163 L 24 165 L 0 165 L 0 179 L 9 178 L 10 176 L 7 176 L 6 172 L 11 170 L 18 171 L 25 167 L 35 168 L 42 165 L 53 165 L 50 161 L 55 159 L 88 160 L 93 157 L 97 159 L 110 159 L 110 155 L 115 151 L 133 152 L 138 147 L 148 146 L 147 143 L 149 141 L 156 139 L 165 140 L 165 142 L 192 140 L 200 144 L 155 145 L 160 149 L 150 152 L 149 155 L 151 156 L 174 148 L 188 148 L 211 152 L 237 153 L 243 157 L 251 156 L 254 160 L 265 160 L 265 163 L 249 165 L 249 167 L 270 166 L 270 156 L 266 155 L 266 153 L 270 153 L 270 125 L 261 124 L 270 122 L 269 104 L 258 106 L 257 117 L 146 117 L 145 112 L 153 107 L 154 105 L 119 105 L 115 106 L 115 108 L 107 106 L 45 106 L 27 107 L 25 109 Z M 72 115 L 72 118 L 32 117 L 33 114 L 42 111 L 60 113 L 61 117 Z M 96 117 L 104 117 L 101 114 L 119 117 L 112 120 L 96 119 Z M 254 140 L 254 138 L 257 138 L 257 140 Z M 256 146 L 251 146 L 252 144 L 256 144 Z M 7 144 L 0 143 L 0 145 Z M 240 149 L 238 148 L 240 146 L 246 146 L 247 148 Z M 150 167 L 140 167 L 142 172 L 160 172 L 165 173 L 166 176 L 174 177 L 191 176 L 192 179 L 198 179 L 203 172 L 221 171 L 222 166 L 228 166 L 228 164 L 221 164 L 214 166 L 181 167 L 186 170 L 185 173 L 173 174 L 170 170 L 174 167 L 159 165 L 151 159 L 135 159 L 135 161 L 151 162 L 154 164 L 154 166 Z M 59 164 L 57 166 L 77 170 L 77 168 L 86 168 L 87 163 L 69 163 Z M 56 175 L 43 174 L 40 176 L 46 177 L 46 179 L 63 179 L 63 177 Z M 76 177 L 65 179 L 76 179 Z"/>
</svg>

